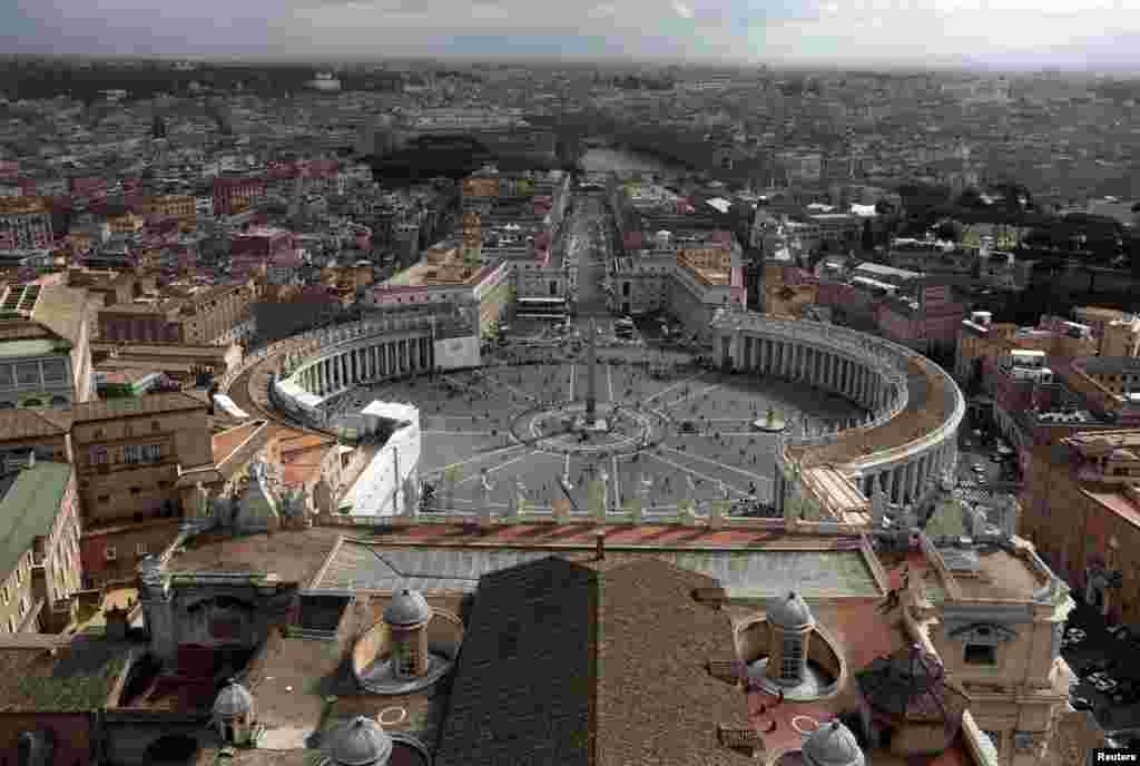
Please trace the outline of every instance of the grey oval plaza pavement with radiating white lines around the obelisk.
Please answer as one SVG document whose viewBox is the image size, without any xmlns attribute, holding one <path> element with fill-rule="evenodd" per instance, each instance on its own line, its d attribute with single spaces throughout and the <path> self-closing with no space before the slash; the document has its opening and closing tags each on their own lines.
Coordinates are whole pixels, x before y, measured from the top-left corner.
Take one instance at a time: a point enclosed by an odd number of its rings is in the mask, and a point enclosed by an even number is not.
<svg viewBox="0 0 1140 766">
<path fill-rule="evenodd" d="M 376 399 L 417 406 L 420 478 L 441 488 L 446 474 L 461 511 L 484 498 L 505 511 L 520 491 L 536 508 L 569 497 L 586 511 L 587 487 L 602 478 L 611 508 L 638 487 L 649 487 L 649 506 L 660 512 L 675 511 L 686 497 L 723 492 L 766 504 L 775 434 L 757 421 L 766 422 L 769 407 L 789 421 L 860 413 L 847 399 L 803 383 L 683 364 L 651 375 L 644 366 L 608 359 L 598 362 L 594 384 L 594 419 L 604 423 L 589 427 L 587 370 L 568 360 L 439 373 L 361 386 L 334 407 Z"/>
</svg>

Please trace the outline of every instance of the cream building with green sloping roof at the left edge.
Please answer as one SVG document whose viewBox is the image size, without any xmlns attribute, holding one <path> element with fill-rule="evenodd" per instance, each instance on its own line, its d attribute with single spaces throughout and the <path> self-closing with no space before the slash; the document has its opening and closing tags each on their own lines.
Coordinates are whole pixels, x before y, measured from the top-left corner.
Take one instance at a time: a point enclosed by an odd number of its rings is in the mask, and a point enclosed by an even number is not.
<svg viewBox="0 0 1140 766">
<path fill-rule="evenodd" d="M 0 468 L 0 633 L 57 633 L 82 585 L 75 472 L 38 461 Z"/>
</svg>

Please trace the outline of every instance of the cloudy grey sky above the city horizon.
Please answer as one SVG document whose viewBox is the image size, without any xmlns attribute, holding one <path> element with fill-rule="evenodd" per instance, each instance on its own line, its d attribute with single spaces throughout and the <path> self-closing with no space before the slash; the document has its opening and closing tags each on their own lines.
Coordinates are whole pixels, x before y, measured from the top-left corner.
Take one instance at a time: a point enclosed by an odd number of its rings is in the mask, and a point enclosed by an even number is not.
<svg viewBox="0 0 1140 766">
<path fill-rule="evenodd" d="M 15 0 L 0 6 L 0 54 L 518 55 L 1140 70 L 1137 0 Z"/>
</svg>

